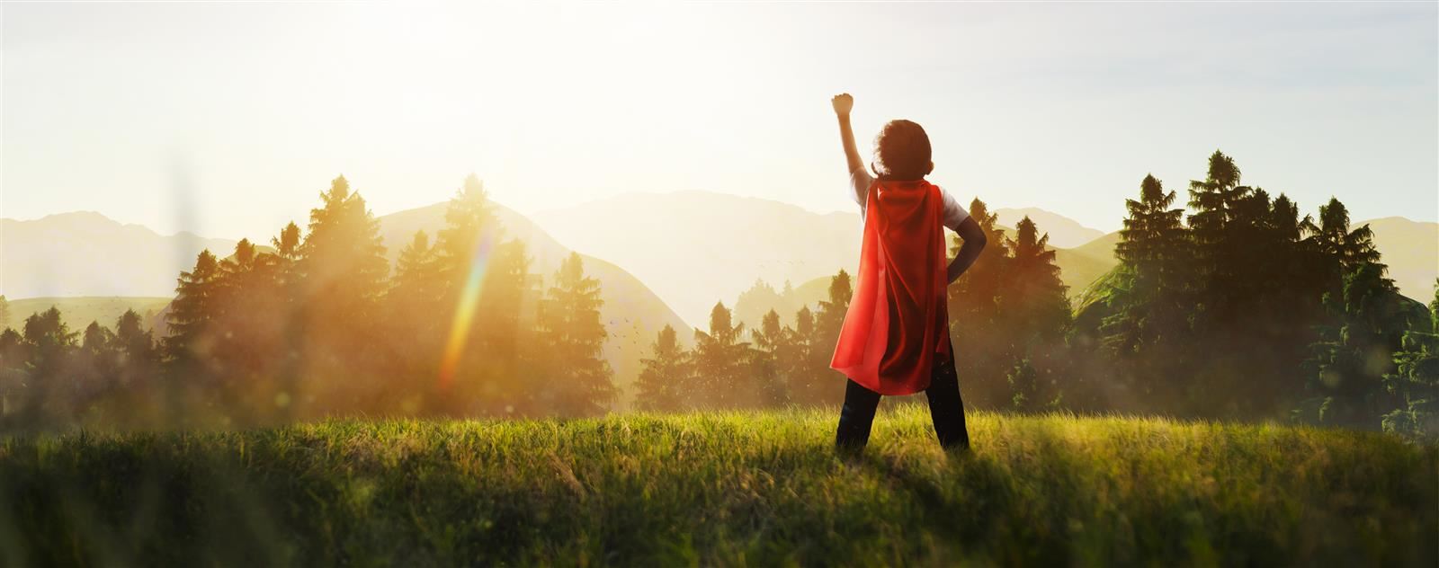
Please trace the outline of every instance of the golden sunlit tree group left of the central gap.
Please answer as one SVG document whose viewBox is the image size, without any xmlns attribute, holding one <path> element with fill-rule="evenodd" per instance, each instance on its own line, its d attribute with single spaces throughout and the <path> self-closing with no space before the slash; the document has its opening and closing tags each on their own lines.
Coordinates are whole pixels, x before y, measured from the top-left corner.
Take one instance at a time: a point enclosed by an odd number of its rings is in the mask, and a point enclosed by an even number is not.
<svg viewBox="0 0 1439 568">
<path fill-rule="evenodd" d="M 578 255 L 532 273 L 471 175 L 445 229 L 390 270 L 344 177 L 301 230 L 201 252 L 155 336 L 124 313 L 71 331 L 55 308 L 0 332 L 0 421 L 246 426 L 331 414 L 587 416 L 614 400 L 599 280 Z"/>
</svg>

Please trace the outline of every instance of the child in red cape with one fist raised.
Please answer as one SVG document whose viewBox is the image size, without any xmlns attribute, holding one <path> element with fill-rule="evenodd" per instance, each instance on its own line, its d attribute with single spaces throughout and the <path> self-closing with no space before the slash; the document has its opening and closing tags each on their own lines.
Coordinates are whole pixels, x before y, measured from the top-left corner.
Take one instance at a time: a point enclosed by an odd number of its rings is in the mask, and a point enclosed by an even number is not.
<svg viewBox="0 0 1439 568">
<path fill-rule="evenodd" d="M 970 434 L 954 372 L 945 288 L 979 257 L 984 232 L 954 197 L 924 180 L 934 170 L 924 128 L 889 121 L 875 137 L 879 167 L 871 164 L 871 177 L 849 127 L 855 99 L 843 93 L 830 104 L 849 162 L 849 190 L 865 220 L 855 296 L 830 361 L 849 377 L 835 446 L 842 452 L 865 447 L 881 395 L 924 391 L 940 446 L 966 450 Z M 941 226 L 964 239 L 947 267 Z"/>
</svg>

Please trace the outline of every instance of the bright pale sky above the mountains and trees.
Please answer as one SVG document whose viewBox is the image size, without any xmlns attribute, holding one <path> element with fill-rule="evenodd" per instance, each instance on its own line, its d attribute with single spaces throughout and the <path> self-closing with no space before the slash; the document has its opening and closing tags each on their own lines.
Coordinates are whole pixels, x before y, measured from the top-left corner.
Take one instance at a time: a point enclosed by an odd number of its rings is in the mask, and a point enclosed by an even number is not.
<svg viewBox="0 0 1439 568">
<path fill-rule="evenodd" d="M 3 4 L 0 217 L 269 240 L 344 174 L 377 214 L 475 173 L 521 213 L 708 190 L 853 209 L 931 181 L 1115 230 L 1215 150 L 1304 213 L 1439 217 L 1439 3 Z M 1183 200 L 1183 197 L 1181 197 Z"/>
</svg>

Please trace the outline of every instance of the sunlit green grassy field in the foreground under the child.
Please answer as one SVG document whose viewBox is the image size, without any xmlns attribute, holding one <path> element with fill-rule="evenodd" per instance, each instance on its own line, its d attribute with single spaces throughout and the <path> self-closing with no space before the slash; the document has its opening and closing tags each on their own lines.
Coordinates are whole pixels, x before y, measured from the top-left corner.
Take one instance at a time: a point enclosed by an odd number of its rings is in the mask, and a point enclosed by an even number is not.
<svg viewBox="0 0 1439 568">
<path fill-rule="evenodd" d="M 0 562 L 1425 565 L 1439 453 L 1340 430 L 922 407 L 0 439 Z"/>
</svg>

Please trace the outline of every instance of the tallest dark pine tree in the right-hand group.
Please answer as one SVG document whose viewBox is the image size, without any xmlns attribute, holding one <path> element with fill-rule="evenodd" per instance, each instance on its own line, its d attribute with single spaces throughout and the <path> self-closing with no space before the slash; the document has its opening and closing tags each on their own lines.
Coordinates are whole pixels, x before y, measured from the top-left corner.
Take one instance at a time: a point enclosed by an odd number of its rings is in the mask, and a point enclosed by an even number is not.
<svg viewBox="0 0 1439 568">
<path fill-rule="evenodd" d="M 1206 180 L 1190 183 L 1190 321 L 1204 338 L 1204 355 L 1190 359 L 1176 410 L 1276 417 L 1302 383 L 1295 368 L 1309 341 L 1289 331 L 1308 328 L 1305 318 L 1318 312 L 1317 296 L 1285 289 L 1304 280 L 1302 270 L 1297 273 L 1305 262 L 1295 242 L 1297 207 L 1284 196 L 1271 201 L 1262 188 L 1240 185 L 1239 167 L 1217 151 Z M 1299 305 L 1292 303 L 1298 298 Z"/>
</svg>

